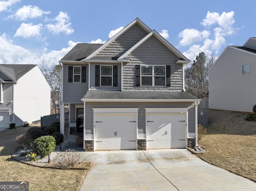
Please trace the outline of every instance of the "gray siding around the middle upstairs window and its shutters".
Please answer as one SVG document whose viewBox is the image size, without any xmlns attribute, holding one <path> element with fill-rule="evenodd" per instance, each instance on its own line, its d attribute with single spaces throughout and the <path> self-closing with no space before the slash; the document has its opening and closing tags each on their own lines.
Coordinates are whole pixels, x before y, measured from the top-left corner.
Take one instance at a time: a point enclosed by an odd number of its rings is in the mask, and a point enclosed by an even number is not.
<svg viewBox="0 0 256 191">
<path fill-rule="evenodd" d="M 102 86 L 102 87 L 96 87 L 95 86 L 95 65 L 118 65 L 118 71 L 117 71 L 117 79 L 118 79 L 118 83 L 117 83 L 117 87 L 106 87 L 106 86 Z M 117 64 L 117 63 L 112 63 L 112 64 L 108 64 L 108 63 L 91 63 L 90 64 L 90 89 L 96 89 L 96 90 L 121 90 L 121 64 Z M 81 97 L 82 98 L 82 97 Z"/>
</svg>

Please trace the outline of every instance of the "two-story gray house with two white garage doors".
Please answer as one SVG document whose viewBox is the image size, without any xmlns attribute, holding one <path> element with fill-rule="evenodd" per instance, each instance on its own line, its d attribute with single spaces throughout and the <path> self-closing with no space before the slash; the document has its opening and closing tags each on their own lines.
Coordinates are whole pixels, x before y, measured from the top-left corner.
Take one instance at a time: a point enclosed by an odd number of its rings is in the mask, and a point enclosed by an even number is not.
<svg viewBox="0 0 256 191">
<path fill-rule="evenodd" d="M 136 18 L 104 44 L 77 44 L 61 61 L 70 128 L 84 150 L 187 148 L 197 144 L 197 105 L 184 89 L 190 61 Z"/>
</svg>

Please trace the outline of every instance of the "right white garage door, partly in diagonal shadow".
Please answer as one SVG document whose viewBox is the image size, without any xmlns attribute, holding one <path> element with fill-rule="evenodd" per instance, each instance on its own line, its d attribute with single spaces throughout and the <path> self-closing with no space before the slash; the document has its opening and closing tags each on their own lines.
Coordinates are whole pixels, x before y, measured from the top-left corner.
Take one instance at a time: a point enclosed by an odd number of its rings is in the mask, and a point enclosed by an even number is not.
<svg viewBox="0 0 256 191">
<path fill-rule="evenodd" d="M 186 148 L 185 119 L 185 114 L 147 114 L 147 149 Z"/>
</svg>

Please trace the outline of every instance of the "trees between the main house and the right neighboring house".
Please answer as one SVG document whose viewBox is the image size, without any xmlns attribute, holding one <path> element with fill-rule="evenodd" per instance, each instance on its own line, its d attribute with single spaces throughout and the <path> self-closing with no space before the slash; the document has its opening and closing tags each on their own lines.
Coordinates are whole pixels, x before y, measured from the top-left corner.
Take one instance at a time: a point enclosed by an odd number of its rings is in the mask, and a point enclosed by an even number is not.
<svg viewBox="0 0 256 191">
<path fill-rule="evenodd" d="M 191 67 L 185 69 L 186 91 L 198 98 L 208 93 L 208 71 L 215 61 L 215 55 L 207 57 L 204 52 L 199 53 Z"/>
</svg>

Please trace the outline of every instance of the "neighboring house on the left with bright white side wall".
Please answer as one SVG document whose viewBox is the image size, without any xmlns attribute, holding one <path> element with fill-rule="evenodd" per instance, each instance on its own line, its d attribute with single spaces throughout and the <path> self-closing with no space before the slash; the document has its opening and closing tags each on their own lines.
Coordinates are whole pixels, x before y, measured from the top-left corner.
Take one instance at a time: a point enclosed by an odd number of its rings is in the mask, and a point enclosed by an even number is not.
<svg viewBox="0 0 256 191">
<path fill-rule="evenodd" d="M 50 114 L 51 94 L 38 65 L 0 65 L 0 130 Z"/>
</svg>

